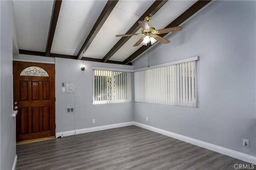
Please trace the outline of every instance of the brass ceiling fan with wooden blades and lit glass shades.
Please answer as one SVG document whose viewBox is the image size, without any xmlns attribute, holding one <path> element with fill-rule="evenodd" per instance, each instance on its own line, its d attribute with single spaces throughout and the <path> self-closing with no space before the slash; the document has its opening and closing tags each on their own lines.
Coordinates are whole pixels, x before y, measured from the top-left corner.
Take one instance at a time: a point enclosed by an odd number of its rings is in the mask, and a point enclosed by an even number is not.
<svg viewBox="0 0 256 170">
<path fill-rule="evenodd" d="M 141 33 L 116 35 L 116 37 L 145 35 L 144 37 L 140 38 L 139 41 L 137 41 L 137 43 L 135 43 L 133 45 L 134 47 L 140 45 L 140 43 L 143 45 L 147 45 L 149 42 L 151 43 L 151 45 L 153 45 L 154 43 L 156 43 L 156 41 L 167 44 L 167 43 L 170 43 L 170 41 L 168 39 L 158 36 L 157 34 L 163 34 L 163 33 L 169 33 L 169 32 L 173 32 L 173 31 L 181 31 L 182 30 L 182 27 L 170 27 L 170 28 L 156 30 L 154 27 L 149 26 L 150 20 L 151 20 L 151 17 L 147 16 L 144 19 L 144 21 L 138 21 L 138 23 L 140 24 L 140 26 L 142 28 Z"/>
</svg>

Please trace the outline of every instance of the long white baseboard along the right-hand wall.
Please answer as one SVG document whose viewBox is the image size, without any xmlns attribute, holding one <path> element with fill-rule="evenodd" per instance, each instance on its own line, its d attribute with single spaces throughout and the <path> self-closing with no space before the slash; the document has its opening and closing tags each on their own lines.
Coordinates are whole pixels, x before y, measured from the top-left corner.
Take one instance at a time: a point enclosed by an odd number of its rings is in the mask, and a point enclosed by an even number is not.
<svg viewBox="0 0 256 170">
<path fill-rule="evenodd" d="M 199 147 L 202 147 L 202 148 L 205 148 L 205 149 L 209 149 L 209 150 L 221 153 L 221 154 L 225 154 L 227 156 L 231 156 L 233 158 L 240 159 L 240 160 L 243 160 L 245 162 L 250 162 L 252 164 L 256 164 L 256 157 L 255 156 L 251 156 L 251 155 L 248 155 L 248 154 L 244 154 L 242 152 L 238 152 L 238 151 L 235 151 L 235 150 L 231 150 L 231 149 L 227 149 L 227 148 L 220 147 L 220 146 L 217 146 L 217 145 L 213 145 L 213 144 L 210 144 L 210 143 L 206 143 L 206 142 L 203 142 L 203 141 L 199 141 L 197 139 L 193 139 L 193 138 L 190 138 L 190 137 L 186 137 L 186 136 L 183 136 L 183 135 L 179 135 L 179 134 L 176 134 L 176 133 L 172 133 L 172 132 L 169 132 L 169 131 L 158 129 L 156 127 L 152 127 L 152 126 L 145 125 L 145 124 L 142 124 L 142 123 L 134 122 L 134 125 L 136 125 L 138 127 L 142 127 L 144 129 L 148 129 L 150 131 L 154 131 L 156 133 L 160 133 L 162 135 L 166 135 L 168 137 L 178 139 L 180 141 L 191 143 L 193 145 L 196 145 L 196 146 L 199 146 Z"/>
</svg>

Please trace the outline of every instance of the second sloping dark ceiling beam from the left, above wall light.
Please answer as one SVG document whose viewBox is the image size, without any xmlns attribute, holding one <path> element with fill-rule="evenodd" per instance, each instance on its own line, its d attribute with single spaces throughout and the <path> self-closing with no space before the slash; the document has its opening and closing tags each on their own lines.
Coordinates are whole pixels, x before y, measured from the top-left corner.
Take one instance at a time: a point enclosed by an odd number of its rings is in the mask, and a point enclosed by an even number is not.
<svg viewBox="0 0 256 170">
<path fill-rule="evenodd" d="M 86 40 L 84 41 L 84 44 L 82 45 L 80 51 L 78 52 L 78 54 L 77 54 L 78 60 L 82 59 L 84 53 L 86 52 L 86 50 L 92 43 L 93 39 L 96 37 L 96 35 L 100 31 L 100 28 L 102 27 L 104 22 L 107 20 L 108 16 L 110 15 L 112 10 L 116 6 L 117 2 L 118 2 L 118 0 L 108 0 L 108 2 L 106 3 L 104 9 L 102 10 L 102 12 L 98 18 L 98 20 L 92 27 L 92 30 L 90 31 L 88 37 L 86 38 Z"/>
</svg>

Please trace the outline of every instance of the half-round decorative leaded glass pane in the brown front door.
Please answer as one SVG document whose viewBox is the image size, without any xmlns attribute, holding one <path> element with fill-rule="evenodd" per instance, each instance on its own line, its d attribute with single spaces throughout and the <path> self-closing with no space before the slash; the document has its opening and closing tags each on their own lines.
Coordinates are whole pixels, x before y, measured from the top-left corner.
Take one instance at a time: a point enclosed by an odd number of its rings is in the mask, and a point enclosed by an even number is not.
<svg viewBox="0 0 256 170">
<path fill-rule="evenodd" d="M 49 77 L 49 74 L 44 70 L 44 68 L 38 66 L 29 66 L 22 70 L 20 76 L 43 76 Z"/>
</svg>

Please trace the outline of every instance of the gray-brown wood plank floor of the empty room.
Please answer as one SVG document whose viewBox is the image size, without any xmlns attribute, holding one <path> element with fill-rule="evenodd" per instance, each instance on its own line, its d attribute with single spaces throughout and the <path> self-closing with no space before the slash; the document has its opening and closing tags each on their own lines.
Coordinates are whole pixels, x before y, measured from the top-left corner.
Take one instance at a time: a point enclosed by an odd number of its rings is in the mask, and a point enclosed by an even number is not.
<svg viewBox="0 0 256 170">
<path fill-rule="evenodd" d="M 137 126 L 16 148 L 16 170 L 227 170 L 250 164 Z"/>
</svg>

